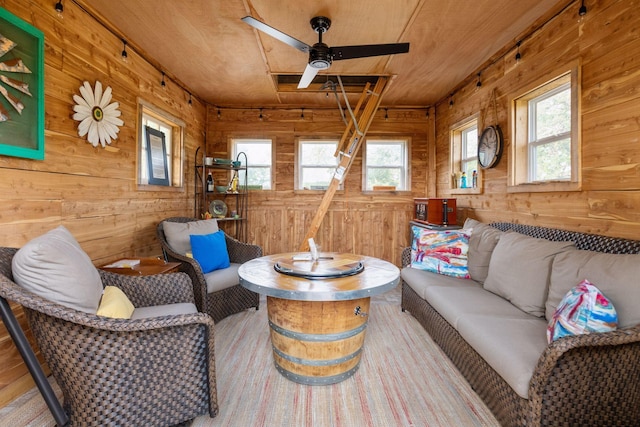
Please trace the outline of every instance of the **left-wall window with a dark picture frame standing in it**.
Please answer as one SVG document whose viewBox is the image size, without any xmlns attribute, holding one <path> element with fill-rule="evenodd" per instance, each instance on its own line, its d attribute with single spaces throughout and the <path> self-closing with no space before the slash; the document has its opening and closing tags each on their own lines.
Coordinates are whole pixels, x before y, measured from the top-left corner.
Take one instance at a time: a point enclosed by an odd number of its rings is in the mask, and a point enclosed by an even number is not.
<svg viewBox="0 0 640 427">
<path fill-rule="evenodd" d="M 138 184 L 182 187 L 184 123 L 142 100 L 138 114 Z"/>
</svg>

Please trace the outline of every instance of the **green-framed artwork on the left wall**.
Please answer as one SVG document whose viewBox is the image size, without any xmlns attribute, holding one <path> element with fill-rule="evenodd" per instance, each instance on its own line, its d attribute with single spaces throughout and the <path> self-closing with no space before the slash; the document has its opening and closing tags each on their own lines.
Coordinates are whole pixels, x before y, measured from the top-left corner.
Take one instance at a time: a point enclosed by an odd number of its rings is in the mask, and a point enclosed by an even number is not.
<svg viewBox="0 0 640 427">
<path fill-rule="evenodd" d="M 44 159 L 44 34 L 3 8 L 0 155 Z"/>
</svg>

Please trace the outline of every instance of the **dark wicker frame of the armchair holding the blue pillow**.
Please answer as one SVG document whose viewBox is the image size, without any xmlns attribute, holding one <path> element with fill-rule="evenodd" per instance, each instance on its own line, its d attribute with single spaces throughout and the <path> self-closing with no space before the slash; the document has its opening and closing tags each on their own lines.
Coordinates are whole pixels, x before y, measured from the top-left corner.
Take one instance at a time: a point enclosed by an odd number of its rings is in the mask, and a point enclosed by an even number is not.
<svg viewBox="0 0 640 427">
<path fill-rule="evenodd" d="M 172 217 L 164 221 L 186 223 L 198 221 L 197 218 L 188 217 Z M 172 262 L 181 262 L 180 271 L 183 271 L 191 277 L 193 282 L 193 293 L 196 299 L 196 307 L 199 311 L 208 313 L 215 322 L 224 319 L 235 313 L 239 313 L 248 308 L 255 307 L 256 310 L 260 306 L 260 296 L 238 284 L 216 292 L 207 292 L 207 282 L 205 275 L 202 273 L 200 264 L 193 258 L 186 257 L 175 252 L 167 242 L 162 222 L 157 226 L 158 240 L 162 245 L 165 259 Z M 242 264 L 254 258 L 262 256 L 262 248 L 257 245 L 250 245 L 240 242 L 225 234 L 227 250 L 229 252 L 229 260 L 232 263 Z"/>
</svg>

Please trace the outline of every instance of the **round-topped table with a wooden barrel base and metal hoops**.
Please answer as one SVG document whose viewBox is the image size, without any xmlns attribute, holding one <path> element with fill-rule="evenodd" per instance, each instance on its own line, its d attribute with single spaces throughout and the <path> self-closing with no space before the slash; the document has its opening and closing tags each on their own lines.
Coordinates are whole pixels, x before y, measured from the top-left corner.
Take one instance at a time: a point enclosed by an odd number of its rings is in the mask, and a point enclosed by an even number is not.
<svg viewBox="0 0 640 427">
<path fill-rule="evenodd" d="M 342 253 L 265 256 L 246 262 L 240 284 L 267 296 L 273 358 L 291 381 L 326 385 L 360 365 L 371 296 L 393 289 L 400 271 L 377 258 Z"/>
</svg>

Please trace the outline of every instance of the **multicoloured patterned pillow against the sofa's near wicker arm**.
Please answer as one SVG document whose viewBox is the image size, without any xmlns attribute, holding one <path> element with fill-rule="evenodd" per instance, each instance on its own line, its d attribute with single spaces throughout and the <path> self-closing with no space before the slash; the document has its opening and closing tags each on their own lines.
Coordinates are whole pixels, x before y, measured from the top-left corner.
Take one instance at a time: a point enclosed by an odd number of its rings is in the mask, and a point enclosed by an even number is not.
<svg viewBox="0 0 640 427">
<path fill-rule="evenodd" d="M 588 280 L 567 292 L 547 327 L 551 343 L 565 336 L 615 331 L 618 314 L 611 301 Z"/>
</svg>

